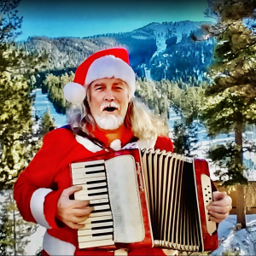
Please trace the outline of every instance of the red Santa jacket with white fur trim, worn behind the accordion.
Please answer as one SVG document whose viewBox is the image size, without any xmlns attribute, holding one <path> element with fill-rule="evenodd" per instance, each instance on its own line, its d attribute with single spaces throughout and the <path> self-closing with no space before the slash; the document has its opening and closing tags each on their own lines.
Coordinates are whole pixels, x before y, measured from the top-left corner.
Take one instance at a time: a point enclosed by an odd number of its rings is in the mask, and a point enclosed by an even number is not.
<svg viewBox="0 0 256 256">
<path fill-rule="evenodd" d="M 107 138 L 100 131 L 96 137 L 103 143 Z M 149 141 L 134 141 L 134 136 L 127 129 L 120 142 L 115 142 L 115 149 L 139 146 L 139 148 L 160 148 L 173 151 L 168 137 L 158 137 Z M 56 223 L 57 201 L 63 189 L 72 186 L 69 164 L 84 160 L 107 151 L 96 146 L 90 140 L 74 136 L 73 132 L 60 128 L 50 131 L 43 140 L 43 147 L 35 155 L 29 166 L 20 173 L 15 183 L 14 196 L 20 214 L 26 221 L 38 223 L 47 229 L 43 248 L 49 255 L 102 255 L 102 251 L 79 250 L 77 230 Z M 127 145 L 128 144 L 128 145 Z M 119 145 L 119 146 L 116 146 Z M 143 248 L 129 251 L 129 255 L 165 255 L 160 248 Z M 113 255 L 113 252 L 104 252 Z"/>
</svg>

